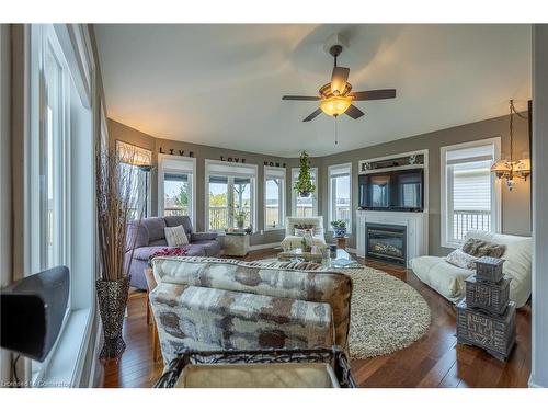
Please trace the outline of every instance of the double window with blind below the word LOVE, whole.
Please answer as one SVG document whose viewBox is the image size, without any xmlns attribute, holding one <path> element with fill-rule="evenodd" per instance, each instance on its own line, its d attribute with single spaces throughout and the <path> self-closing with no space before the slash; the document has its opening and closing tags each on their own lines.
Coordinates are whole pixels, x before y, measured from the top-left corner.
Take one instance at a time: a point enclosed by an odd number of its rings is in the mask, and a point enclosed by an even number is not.
<svg viewBox="0 0 548 411">
<path fill-rule="evenodd" d="M 256 165 L 206 160 L 207 229 L 255 228 L 255 182 Z"/>
</svg>

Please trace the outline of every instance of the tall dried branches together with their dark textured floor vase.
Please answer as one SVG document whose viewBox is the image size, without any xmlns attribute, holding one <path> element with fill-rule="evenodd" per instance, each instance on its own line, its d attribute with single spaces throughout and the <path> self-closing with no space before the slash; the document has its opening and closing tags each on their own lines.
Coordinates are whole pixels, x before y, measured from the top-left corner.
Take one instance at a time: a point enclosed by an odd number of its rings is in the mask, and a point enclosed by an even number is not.
<svg viewBox="0 0 548 411">
<path fill-rule="evenodd" d="M 132 189 L 137 184 L 139 171 L 122 164 L 119 156 L 107 150 L 95 151 L 95 197 L 98 217 L 98 240 L 100 274 L 95 282 L 101 322 L 103 324 L 103 347 L 101 361 L 117 358 L 126 344 L 122 338 L 124 313 L 129 290 L 132 255 L 124 263 L 127 248 L 127 224 L 136 209 L 132 201 Z M 146 198 L 145 198 L 146 203 Z M 137 212 L 140 222 L 142 209 Z"/>
</svg>

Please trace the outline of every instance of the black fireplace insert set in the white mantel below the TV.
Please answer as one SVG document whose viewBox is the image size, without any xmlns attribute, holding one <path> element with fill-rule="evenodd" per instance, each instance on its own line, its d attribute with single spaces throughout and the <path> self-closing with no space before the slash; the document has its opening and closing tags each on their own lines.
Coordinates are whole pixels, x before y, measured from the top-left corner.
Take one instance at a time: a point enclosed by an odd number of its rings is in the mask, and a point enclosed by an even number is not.
<svg viewBox="0 0 548 411">
<path fill-rule="evenodd" d="M 407 227 L 388 224 L 366 224 L 365 256 L 406 266 Z"/>
</svg>

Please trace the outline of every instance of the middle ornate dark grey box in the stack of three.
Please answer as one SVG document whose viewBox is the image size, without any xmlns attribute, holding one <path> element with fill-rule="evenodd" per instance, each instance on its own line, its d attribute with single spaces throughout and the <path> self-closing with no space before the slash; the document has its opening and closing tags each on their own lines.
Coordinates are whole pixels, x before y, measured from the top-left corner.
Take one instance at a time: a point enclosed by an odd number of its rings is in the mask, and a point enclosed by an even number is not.
<svg viewBox="0 0 548 411">
<path fill-rule="evenodd" d="M 502 278 L 499 283 L 479 282 L 470 275 L 466 278 L 466 304 L 501 316 L 510 301 L 510 278 Z"/>
</svg>

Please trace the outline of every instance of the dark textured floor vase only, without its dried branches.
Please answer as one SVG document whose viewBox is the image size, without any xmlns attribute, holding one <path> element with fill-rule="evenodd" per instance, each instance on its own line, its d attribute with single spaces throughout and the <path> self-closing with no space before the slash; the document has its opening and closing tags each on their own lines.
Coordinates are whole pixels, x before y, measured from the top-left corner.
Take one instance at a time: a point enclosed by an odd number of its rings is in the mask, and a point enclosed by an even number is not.
<svg viewBox="0 0 548 411">
<path fill-rule="evenodd" d="M 117 358 L 126 349 L 122 338 L 124 313 L 127 305 L 130 275 L 117 281 L 98 279 L 95 282 L 101 321 L 103 322 L 103 349 L 101 361 Z"/>
</svg>

